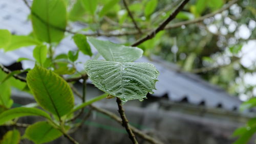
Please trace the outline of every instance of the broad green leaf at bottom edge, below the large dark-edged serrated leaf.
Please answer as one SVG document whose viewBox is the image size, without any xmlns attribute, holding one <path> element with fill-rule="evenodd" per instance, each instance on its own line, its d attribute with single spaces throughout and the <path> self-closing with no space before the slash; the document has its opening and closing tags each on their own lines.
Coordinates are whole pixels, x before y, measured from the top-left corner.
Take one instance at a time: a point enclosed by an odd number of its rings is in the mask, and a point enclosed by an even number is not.
<svg viewBox="0 0 256 144">
<path fill-rule="evenodd" d="M 37 122 L 26 129 L 24 137 L 32 140 L 34 143 L 46 143 L 61 135 L 62 133 L 48 122 Z"/>
</svg>

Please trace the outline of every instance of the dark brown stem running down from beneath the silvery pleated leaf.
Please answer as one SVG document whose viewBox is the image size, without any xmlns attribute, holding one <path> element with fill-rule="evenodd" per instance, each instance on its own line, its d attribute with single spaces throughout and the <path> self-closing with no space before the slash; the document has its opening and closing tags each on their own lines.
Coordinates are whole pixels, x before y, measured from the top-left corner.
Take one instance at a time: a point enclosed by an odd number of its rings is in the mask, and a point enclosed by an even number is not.
<svg viewBox="0 0 256 144">
<path fill-rule="evenodd" d="M 128 119 L 126 118 L 126 116 L 124 114 L 124 110 L 123 110 L 123 107 L 122 107 L 122 101 L 119 98 L 116 98 L 116 102 L 117 102 L 117 105 L 118 105 L 118 112 L 119 112 L 119 114 L 122 118 L 122 126 L 127 131 L 128 135 L 129 135 L 129 138 L 132 140 L 132 142 L 135 143 L 135 144 L 138 144 L 138 141 L 136 140 L 136 137 L 133 134 L 132 129 L 128 125 Z"/>
</svg>

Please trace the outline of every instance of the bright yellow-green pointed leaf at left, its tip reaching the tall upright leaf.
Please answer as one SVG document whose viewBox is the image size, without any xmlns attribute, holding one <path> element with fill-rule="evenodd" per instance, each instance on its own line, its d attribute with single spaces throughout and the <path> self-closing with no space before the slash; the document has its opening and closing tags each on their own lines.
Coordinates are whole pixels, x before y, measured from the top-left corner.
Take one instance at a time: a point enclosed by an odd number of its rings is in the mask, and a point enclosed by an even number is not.
<svg viewBox="0 0 256 144">
<path fill-rule="evenodd" d="M 5 51 L 13 51 L 20 47 L 41 44 L 38 40 L 29 36 L 13 35 L 8 46 L 4 48 Z"/>
</svg>

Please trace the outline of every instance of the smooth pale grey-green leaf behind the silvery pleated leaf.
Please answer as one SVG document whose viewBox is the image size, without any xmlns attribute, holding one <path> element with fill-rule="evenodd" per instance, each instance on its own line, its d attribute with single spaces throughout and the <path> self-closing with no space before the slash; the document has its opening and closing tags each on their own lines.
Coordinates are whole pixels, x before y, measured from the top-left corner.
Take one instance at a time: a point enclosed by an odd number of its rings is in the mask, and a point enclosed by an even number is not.
<svg viewBox="0 0 256 144">
<path fill-rule="evenodd" d="M 143 51 L 138 47 L 124 46 L 92 37 L 88 37 L 88 41 L 108 61 L 132 62 L 140 58 L 143 54 Z"/>
</svg>

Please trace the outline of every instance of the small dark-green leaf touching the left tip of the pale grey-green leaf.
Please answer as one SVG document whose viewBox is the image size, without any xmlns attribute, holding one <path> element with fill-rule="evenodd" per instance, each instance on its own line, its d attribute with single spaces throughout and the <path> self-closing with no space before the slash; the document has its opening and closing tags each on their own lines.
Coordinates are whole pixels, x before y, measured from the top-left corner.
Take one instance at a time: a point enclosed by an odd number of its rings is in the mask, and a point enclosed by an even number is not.
<svg viewBox="0 0 256 144">
<path fill-rule="evenodd" d="M 89 43 L 87 42 L 87 38 L 85 35 L 82 34 L 75 34 L 74 37 L 74 42 L 76 43 L 78 49 L 84 54 L 84 55 L 89 55 L 92 56 L 92 51 Z"/>
</svg>

